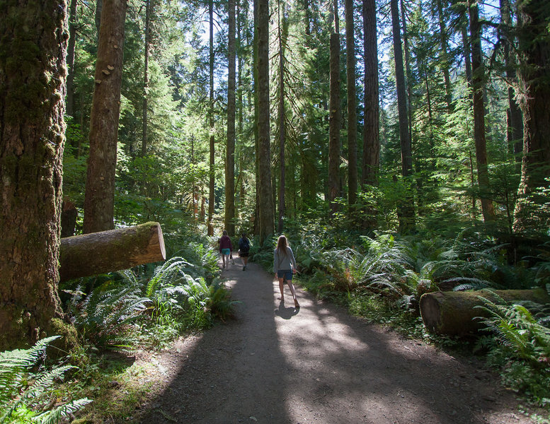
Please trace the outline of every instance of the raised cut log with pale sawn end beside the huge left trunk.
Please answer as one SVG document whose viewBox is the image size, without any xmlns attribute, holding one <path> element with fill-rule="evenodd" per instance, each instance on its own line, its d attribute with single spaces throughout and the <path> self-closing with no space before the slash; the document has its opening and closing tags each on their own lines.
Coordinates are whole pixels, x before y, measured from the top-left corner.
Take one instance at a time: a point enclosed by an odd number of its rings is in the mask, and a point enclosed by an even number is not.
<svg viewBox="0 0 550 424">
<path fill-rule="evenodd" d="M 68 281 L 164 259 L 166 249 L 159 223 L 91 232 L 61 239 L 59 278 Z"/>
</svg>

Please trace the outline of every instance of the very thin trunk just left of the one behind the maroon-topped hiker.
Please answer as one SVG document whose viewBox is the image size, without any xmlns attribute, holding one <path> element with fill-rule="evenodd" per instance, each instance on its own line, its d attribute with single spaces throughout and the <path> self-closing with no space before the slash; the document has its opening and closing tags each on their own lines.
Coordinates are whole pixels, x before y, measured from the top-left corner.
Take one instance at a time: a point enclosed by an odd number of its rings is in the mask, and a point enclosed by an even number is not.
<svg viewBox="0 0 550 424">
<path fill-rule="evenodd" d="M 214 168 L 214 0 L 208 2 L 208 22 L 210 33 L 210 47 L 209 47 L 209 102 L 208 102 L 208 126 L 210 127 L 210 160 L 208 169 L 208 220 L 207 220 L 207 232 L 208 235 L 214 235 L 214 225 L 212 225 L 212 218 L 214 216 L 214 202 L 216 201 L 214 193 L 215 184 L 215 168 Z"/>
</svg>

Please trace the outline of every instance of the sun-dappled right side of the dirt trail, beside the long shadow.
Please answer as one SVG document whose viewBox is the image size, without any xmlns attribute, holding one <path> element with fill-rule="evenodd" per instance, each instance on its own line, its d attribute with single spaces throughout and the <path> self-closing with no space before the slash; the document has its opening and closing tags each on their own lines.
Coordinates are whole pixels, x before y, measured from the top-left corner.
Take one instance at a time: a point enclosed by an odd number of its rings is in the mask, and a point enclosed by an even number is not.
<svg viewBox="0 0 550 424">
<path fill-rule="evenodd" d="M 309 324 L 287 331 L 292 337 L 280 329 L 281 351 L 294 358 L 290 376 L 299 376 L 286 384 L 287 409 L 302 404 L 293 422 L 503 423 L 507 415 L 517 422 L 515 398 L 497 393 L 498 377 L 491 382 L 465 362 L 335 305 L 299 301 L 302 309 L 292 322 Z"/>
</svg>

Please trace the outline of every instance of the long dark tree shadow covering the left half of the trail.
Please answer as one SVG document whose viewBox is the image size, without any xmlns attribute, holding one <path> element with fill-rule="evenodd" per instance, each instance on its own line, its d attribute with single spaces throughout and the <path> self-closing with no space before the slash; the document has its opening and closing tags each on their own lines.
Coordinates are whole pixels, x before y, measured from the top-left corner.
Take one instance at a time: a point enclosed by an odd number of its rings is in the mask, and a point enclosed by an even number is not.
<svg viewBox="0 0 550 424">
<path fill-rule="evenodd" d="M 235 264 L 228 278 L 236 319 L 202 334 L 180 358 L 178 375 L 141 423 L 288 423 L 288 365 L 280 352 L 273 288 L 257 264 Z M 287 308 L 280 313 L 290 318 Z M 185 342 L 184 342 L 185 343 Z"/>
</svg>

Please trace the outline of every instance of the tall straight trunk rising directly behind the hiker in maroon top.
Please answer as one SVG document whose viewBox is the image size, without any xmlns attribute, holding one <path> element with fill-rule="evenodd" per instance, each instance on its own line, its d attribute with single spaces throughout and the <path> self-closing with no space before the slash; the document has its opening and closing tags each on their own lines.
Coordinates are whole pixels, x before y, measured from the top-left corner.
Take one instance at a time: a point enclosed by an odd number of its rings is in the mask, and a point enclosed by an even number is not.
<svg viewBox="0 0 550 424">
<path fill-rule="evenodd" d="M 225 229 L 235 235 L 235 0 L 229 0 L 229 42 L 227 45 L 227 147 L 225 155 Z"/>
</svg>

